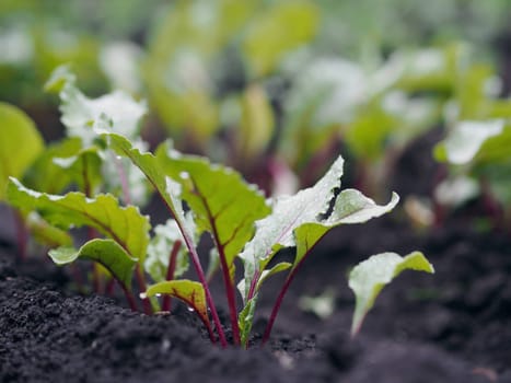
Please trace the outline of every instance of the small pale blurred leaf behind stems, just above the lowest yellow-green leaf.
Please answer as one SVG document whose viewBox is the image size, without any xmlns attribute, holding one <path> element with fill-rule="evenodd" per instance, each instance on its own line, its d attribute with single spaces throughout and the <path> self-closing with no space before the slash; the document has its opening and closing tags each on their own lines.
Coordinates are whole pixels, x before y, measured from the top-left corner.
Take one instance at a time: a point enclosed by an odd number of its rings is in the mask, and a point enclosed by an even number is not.
<svg viewBox="0 0 511 383">
<path fill-rule="evenodd" d="M 184 244 L 183 235 L 175 220 L 170 219 L 165 224 L 159 224 L 154 228 L 154 236 L 151 239 L 148 246 L 144 269 L 151 275 L 151 278 L 155 282 L 163 282 L 166 280 L 170 254 L 176 241 L 181 241 Z M 186 246 L 183 245 L 177 255 L 174 278 L 181 277 L 188 270 L 188 252 L 186 251 Z"/>
</svg>

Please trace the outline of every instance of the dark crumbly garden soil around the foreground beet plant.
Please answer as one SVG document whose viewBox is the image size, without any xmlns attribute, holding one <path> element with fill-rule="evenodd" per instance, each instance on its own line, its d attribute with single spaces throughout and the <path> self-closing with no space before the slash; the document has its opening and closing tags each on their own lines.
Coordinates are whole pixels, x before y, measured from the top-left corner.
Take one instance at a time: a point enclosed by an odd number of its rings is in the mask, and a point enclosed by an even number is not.
<svg viewBox="0 0 511 383">
<path fill-rule="evenodd" d="M 435 173 L 406 154 L 400 166 L 407 171 L 393 187 L 403 197 L 420 193 L 418 174 Z M 282 277 L 268 281 L 248 350 L 211 345 L 177 302 L 172 314 L 147 316 L 121 299 L 81 295 L 69 269 L 40 254 L 20 262 L 12 239 L 0 235 L 0 382 L 511 382 L 511 235 L 481 230 L 472 208 L 427 232 L 399 211 L 336 229 L 305 262 L 260 347 Z M 0 218 L 5 227 L 9 216 Z M 405 271 L 351 338 L 350 267 L 415 249 L 435 274 Z M 221 292 L 216 280 L 213 295 Z M 302 309 L 304 297 L 322 294 L 332 297 L 330 315 Z"/>
</svg>

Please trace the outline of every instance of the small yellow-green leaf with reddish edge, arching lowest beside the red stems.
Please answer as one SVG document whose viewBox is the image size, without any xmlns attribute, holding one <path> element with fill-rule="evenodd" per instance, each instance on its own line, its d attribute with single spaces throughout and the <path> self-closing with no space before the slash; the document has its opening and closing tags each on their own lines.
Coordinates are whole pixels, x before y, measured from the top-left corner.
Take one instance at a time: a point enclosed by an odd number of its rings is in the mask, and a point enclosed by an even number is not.
<svg viewBox="0 0 511 383">
<path fill-rule="evenodd" d="M 152 285 L 141 294 L 143 298 L 167 294 L 184 301 L 194 309 L 205 323 L 209 323 L 206 292 L 202 285 L 188 279 L 170 280 Z"/>
</svg>

